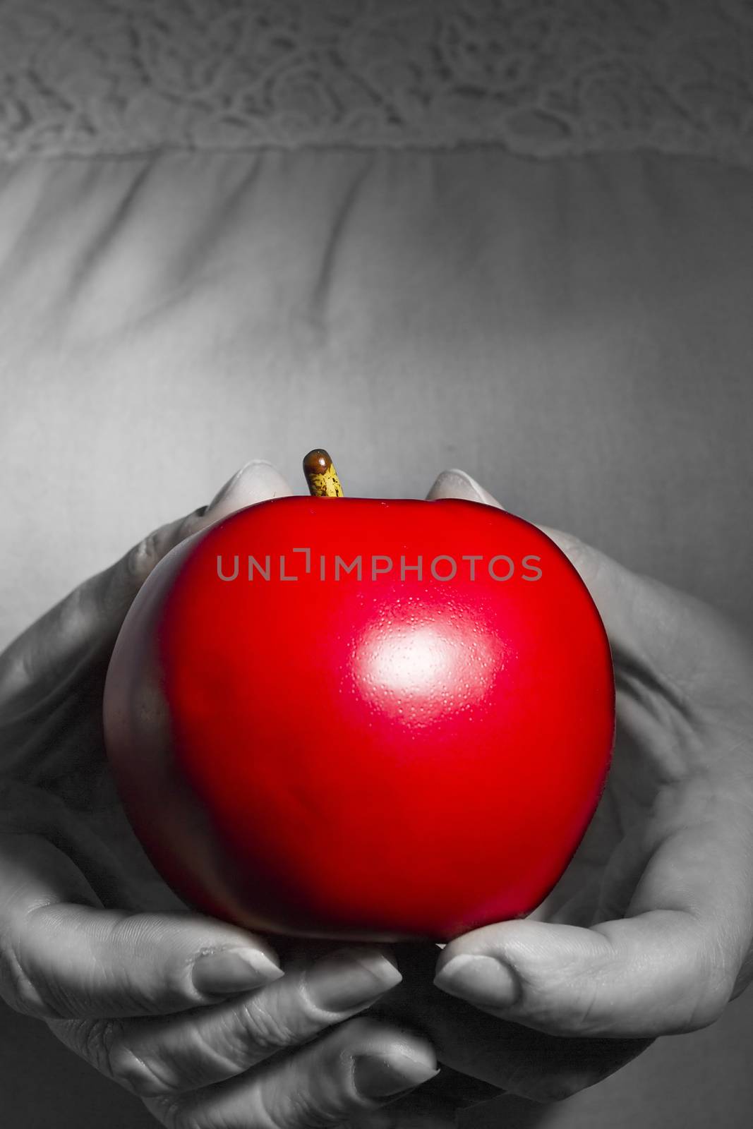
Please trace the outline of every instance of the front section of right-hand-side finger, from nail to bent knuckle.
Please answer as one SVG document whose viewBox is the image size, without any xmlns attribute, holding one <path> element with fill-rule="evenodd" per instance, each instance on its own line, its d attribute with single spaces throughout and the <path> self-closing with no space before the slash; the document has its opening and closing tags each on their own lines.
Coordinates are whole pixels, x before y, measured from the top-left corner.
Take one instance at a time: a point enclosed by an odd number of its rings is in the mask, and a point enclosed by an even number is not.
<svg viewBox="0 0 753 1129">
<path fill-rule="evenodd" d="M 553 1035 L 681 1034 L 713 1023 L 730 998 L 739 959 L 725 944 L 712 924 L 682 910 L 590 929 L 505 921 L 448 945 L 435 983 Z"/>
</svg>

